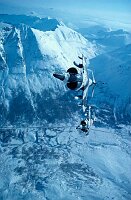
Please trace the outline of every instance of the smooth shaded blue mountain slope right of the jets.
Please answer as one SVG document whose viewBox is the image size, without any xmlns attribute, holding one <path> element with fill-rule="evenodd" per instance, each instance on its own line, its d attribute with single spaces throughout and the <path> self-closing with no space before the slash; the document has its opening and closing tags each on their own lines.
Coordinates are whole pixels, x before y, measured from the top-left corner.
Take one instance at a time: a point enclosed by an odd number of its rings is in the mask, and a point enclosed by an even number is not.
<svg viewBox="0 0 131 200">
<path fill-rule="evenodd" d="M 131 119 L 131 44 L 113 52 L 102 54 L 90 61 L 98 85 L 96 101 L 106 108 L 111 106 L 114 120 Z M 104 84 L 103 84 L 104 83 Z"/>
</svg>

